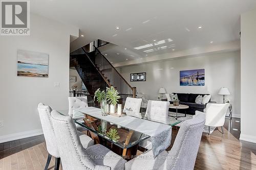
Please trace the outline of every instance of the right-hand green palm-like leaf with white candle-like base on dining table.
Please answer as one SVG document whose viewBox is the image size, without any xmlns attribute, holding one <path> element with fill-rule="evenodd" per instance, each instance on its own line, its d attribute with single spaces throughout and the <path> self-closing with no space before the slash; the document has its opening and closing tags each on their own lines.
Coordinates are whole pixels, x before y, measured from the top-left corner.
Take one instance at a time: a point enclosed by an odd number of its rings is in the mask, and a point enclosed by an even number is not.
<svg viewBox="0 0 256 170">
<path fill-rule="evenodd" d="M 120 96 L 118 95 L 119 92 L 111 86 L 106 87 L 106 101 L 110 104 L 110 113 L 115 113 L 115 106 L 117 105 L 118 99 Z"/>
</svg>

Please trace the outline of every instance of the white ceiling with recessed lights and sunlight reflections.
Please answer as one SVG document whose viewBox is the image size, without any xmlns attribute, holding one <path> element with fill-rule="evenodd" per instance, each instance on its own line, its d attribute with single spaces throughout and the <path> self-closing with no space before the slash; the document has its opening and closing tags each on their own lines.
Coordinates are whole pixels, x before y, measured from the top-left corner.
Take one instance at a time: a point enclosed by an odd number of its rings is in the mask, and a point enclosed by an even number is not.
<svg viewBox="0 0 256 170">
<path fill-rule="evenodd" d="M 79 28 L 81 45 L 117 44 L 101 50 L 114 63 L 238 40 L 240 14 L 254 7 L 255 0 L 31 1 L 33 13 Z"/>
</svg>

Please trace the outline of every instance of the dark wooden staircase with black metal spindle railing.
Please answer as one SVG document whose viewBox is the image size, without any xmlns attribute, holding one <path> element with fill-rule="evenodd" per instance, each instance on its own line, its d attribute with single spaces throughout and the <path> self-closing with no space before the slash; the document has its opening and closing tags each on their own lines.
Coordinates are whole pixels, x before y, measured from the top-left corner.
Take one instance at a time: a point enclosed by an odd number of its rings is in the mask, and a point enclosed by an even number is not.
<svg viewBox="0 0 256 170">
<path fill-rule="evenodd" d="M 119 103 L 124 103 L 127 97 L 136 98 L 136 87 L 132 87 L 120 75 L 111 62 L 100 53 L 95 43 L 93 51 L 89 49 L 92 48 L 86 45 L 78 49 L 77 54 L 70 55 L 70 67 L 76 68 L 88 92 L 94 95 L 98 88 L 105 90 L 106 87 L 114 86 L 121 96 Z"/>
</svg>

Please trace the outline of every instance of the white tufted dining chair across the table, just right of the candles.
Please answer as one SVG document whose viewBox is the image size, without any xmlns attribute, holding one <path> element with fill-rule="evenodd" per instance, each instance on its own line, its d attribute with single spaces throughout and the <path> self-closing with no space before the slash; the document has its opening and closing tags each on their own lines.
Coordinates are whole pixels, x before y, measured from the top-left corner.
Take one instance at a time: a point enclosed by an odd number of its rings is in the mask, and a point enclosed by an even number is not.
<svg viewBox="0 0 256 170">
<path fill-rule="evenodd" d="M 141 118 L 140 106 L 142 99 L 127 97 L 125 100 L 123 112 L 128 116 Z"/>
</svg>

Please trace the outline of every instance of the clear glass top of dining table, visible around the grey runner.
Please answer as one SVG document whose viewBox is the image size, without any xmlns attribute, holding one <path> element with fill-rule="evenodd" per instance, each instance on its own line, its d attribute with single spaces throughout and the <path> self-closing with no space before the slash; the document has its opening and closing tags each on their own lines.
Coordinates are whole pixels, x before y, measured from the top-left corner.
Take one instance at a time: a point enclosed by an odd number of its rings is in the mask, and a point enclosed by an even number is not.
<svg viewBox="0 0 256 170">
<path fill-rule="evenodd" d="M 68 110 L 58 110 L 58 112 L 62 115 L 68 115 L 69 113 Z M 104 120 L 99 117 L 92 116 L 92 114 L 89 115 L 78 110 L 73 111 L 73 119 L 76 124 L 90 130 L 122 149 L 133 147 L 141 141 L 150 138 L 150 136 L 144 133 L 122 127 L 108 120 Z M 153 122 L 157 121 L 154 120 Z M 175 126 L 180 122 L 180 120 L 170 118 L 167 124 L 169 126 Z"/>
</svg>

